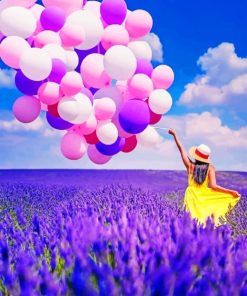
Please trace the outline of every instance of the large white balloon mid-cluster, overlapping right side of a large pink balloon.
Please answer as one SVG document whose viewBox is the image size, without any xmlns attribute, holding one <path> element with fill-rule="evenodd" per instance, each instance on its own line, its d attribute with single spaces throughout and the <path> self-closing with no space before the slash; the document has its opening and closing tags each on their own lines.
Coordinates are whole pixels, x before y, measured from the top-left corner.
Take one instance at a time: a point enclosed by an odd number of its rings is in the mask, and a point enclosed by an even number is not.
<svg viewBox="0 0 247 296">
<path fill-rule="evenodd" d="M 136 66 L 136 58 L 126 46 L 115 45 L 105 53 L 105 71 L 113 79 L 127 80 L 131 78 L 135 73 Z"/>
</svg>

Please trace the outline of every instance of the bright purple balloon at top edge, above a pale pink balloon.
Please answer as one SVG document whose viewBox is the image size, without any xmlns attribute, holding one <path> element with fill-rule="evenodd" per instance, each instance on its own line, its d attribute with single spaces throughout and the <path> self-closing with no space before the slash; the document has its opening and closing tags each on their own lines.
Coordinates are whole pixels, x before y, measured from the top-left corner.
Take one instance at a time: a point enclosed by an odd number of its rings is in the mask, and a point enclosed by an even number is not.
<svg viewBox="0 0 247 296">
<path fill-rule="evenodd" d="M 100 13 L 108 25 L 121 25 L 127 15 L 127 5 L 124 0 L 103 0 Z"/>
</svg>

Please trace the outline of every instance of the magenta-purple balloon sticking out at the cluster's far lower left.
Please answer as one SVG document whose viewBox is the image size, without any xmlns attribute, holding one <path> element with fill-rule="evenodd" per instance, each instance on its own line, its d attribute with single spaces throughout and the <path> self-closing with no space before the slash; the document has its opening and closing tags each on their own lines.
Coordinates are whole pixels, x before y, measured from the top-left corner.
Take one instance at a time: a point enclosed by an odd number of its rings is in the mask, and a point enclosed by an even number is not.
<svg viewBox="0 0 247 296">
<path fill-rule="evenodd" d="M 22 96 L 13 105 L 16 119 L 23 123 L 29 123 L 38 118 L 40 110 L 40 101 L 32 96 Z"/>
</svg>

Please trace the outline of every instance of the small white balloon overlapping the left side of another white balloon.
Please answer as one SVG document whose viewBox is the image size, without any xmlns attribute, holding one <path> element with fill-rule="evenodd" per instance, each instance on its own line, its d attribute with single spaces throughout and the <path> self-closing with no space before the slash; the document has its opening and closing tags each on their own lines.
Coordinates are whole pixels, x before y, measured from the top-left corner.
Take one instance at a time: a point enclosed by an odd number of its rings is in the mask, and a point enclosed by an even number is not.
<svg viewBox="0 0 247 296">
<path fill-rule="evenodd" d="M 79 116 L 79 103 L 75 98 L 65 97 L 58 103 L 58 114 L 66 121 L 72 122 Z"/>
</svg>

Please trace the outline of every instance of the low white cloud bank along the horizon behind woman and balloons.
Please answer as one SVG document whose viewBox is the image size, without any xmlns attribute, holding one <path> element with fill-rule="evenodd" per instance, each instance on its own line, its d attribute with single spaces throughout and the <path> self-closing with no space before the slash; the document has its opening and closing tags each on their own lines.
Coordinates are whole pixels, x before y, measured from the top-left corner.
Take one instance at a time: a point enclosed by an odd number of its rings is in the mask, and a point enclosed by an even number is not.
<svg viewBox="0 0 247 296">
<path fill-rule="evenodd" d="M 191 146 L 201 143 L 210 146 L 212 161 L 217 170 L 246 171 L 247 126 L 236 130 L 231 129 L 222 123 L 217 113 L 210 112 L 188 113 L 182 116 L 166 115 L 159 126 L 174 128 L 187 151 Z M 26 125 L 16 123 L 15 120 L 0 121 L 0 132 L 1 130 L 6 131 L 3 137 L 0 135 L 0 146 L 5 147 L 4 151 L 7 151 L 5 152 L 6 159 L 11 151 L 15 151 L 18 155 L 24 153 L 24 147 L 30 147 L 30 142 L 27 141 L 29 133 L 25 135 L 11 133 L 11 131 L 27 130 L 25 128 L 27 128 Z M 30 162 L 22 162 L 20 158 L 16 158 L 12 160 L 12 168 L 184 169 L 172 136 L 164 131 L 159 131 L 163 141 L 156 147 L 151 149 L 138 147 L 132 153 L 119 153 L 108 164 L 97 166 L 90 162 L 87 156 L 79 161 L 70 161 L 62 156 L 59 143 L 64 131 L 52 131 L 42 119 L 32 124 L 31 127 L 29 126 L 29 131 L 30 128 L 40 135 L 40 137 L 32 137 L 32 145 L 35 147 L 33 153 L 42 154 L 46 161 L 43 162 L 34 157 L 35 159 L 30 158 Z M 42 145 L 40 144 L 41 139 Z M 43 147 L 46 147 L 45 151 Z"/>
</svg>

